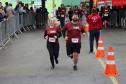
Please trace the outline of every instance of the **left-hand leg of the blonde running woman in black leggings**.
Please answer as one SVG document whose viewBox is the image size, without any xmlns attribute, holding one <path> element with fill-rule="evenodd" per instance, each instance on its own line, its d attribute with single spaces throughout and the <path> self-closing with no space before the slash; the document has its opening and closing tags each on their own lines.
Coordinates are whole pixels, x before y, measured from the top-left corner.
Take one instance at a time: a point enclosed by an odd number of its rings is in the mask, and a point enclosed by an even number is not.
<svg viewBox="0 0 126 84">
<path fill-rule="evenodd" d="M 53 46 L 50 43 L 47 43 L 47 49 L 49 51 L 50 62 L 52 64 L 52 69 L 54 69 L 55 65 L 54 65 L 54 57 L 53 57 Z"/>
</svg>

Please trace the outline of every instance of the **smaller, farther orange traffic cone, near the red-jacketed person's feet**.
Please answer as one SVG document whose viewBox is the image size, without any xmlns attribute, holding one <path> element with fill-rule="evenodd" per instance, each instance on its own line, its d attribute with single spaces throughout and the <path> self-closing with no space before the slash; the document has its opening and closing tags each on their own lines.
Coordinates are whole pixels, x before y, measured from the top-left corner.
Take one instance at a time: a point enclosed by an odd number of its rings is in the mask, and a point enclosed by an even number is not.
<svg viewBox="0 0 126 84">
<path fill-rule="evenodd" d="M 98 49 L 96 52 L 96 58 L 104 58 L 105 57 L 105 50 L 103 46 L 103 38 L 100 36 L 98 41 Z"/>
</svg>

